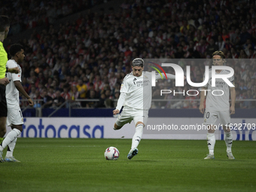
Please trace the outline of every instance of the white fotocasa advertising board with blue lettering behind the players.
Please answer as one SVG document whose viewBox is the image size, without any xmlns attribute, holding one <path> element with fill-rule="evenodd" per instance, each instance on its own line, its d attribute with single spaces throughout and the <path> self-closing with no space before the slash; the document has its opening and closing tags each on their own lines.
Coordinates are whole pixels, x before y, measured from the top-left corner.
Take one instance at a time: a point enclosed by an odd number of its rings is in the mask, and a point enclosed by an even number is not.
<svg viewBox="0 0 256 192">
<path fill-rule="evenodd" d="M 96 138 L 132 139 L 133 121 L 120 130 L 113 130 L 116 117 L 24 117 L 23 138 Z M 234 140 L 256 141 L 256 120 L 233 118 L 231 128 Z M 7 133 L 11 128 L 7 127 Z M 203 118 L 148 118 L 142 139 L 206 139 L 207 126 Z M 222 125 L 215 125 L 215 137 L 224 139 Z"/>
</svg>

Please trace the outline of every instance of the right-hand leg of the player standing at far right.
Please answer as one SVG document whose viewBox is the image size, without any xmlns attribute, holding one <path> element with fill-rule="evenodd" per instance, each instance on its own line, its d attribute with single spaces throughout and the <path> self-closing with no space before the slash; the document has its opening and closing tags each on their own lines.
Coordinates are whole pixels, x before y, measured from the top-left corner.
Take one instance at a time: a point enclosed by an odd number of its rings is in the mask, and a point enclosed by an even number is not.
<svg viewBox="0 0 256 192">
<path fill-rule="evenodd" d="M 224 130 L 224 141 L 226 143 L 227 146 L 227 157 L 230 160 L 235 159 L 235 157 L 233 157 L 231 148 L 232 148 L 232 144 L 233 144 L 233 135 L 232 132 L 230 130 L 230 111 L 219 111 L 220 113 L 220 122 L 221 124 L 223 124 L 223 130 Z"/>
</svg>

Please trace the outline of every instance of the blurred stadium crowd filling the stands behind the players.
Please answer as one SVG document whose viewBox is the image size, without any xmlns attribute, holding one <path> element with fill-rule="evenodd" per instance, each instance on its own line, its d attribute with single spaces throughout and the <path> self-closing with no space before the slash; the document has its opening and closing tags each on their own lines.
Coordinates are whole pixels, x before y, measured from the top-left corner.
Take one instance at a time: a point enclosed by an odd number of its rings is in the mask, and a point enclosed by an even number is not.
<svg viewBox="0 0 256 192">
<path fill-rule="evenodd" d="M 38 26 L 50 20 L 50 14 L 56 20 L 77 8 L 81 10 L 90 1 L 22 2 L 31 4 L 25 8 L 25 3 L 17 2 L 14 7 L 20 11 L 7 9 L 6 14 L 11 13 L 13 20 L 16 18 L 23 23 L 21 26 L 29 28 L 33 27 L 32 20 Z M 118 10 L 111 8 L 110 14 L 88 10 L 73 22 L 58 25 L 48 22 L 41 32 L 20 40 L 26 51 L 23 87 L 32 99 L 43 99 L 40 106 L 44 108 L 56 108 L 65 100 L 70 100 L 72 107 L 114 108 L 121 81 L 130 73 L 131 61 L 136 57 L 183 58 L 183 63 L 191 66 L 191 81 L 202 82 L 204 65 L 188 60 L 210 59 L 215 50 L 222 50 L 227 66 L 235 70 L 236 99 L 256 99 L 255 8 L 254 1 L 134 0 L 123 2 Z M 198 108 L 199 101 L 195 99 L 200 99 L 200 95 L 160 96 L 161 88 L 177 88 L 174 82 L 158 84 L 153 99 L 185 99 L 185 102 L 154 102 L 152 108 Z M 184 90 L 194 89 L 184 87 Z M 76 99 L 99 99 L 99 102 L 76 102 Z M 236 101 L 236 108 L 253 107 L 255 102 Z"/>
</svg>

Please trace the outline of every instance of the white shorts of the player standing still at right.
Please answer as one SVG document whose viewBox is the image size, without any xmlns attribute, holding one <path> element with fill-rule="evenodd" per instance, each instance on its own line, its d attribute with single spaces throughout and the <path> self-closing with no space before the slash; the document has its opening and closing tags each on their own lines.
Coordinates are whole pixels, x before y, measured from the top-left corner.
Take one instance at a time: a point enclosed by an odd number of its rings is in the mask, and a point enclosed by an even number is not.
<svg viewBox="0 0 256 192">
<path fill-rule="evenodd" d="M 221 125 L 228 126 L 230 124 L 230 110 L 227 111 L 205 111 L 203 123 L 206 125 L 216 125 L 217 120 Z"/>
</svg>

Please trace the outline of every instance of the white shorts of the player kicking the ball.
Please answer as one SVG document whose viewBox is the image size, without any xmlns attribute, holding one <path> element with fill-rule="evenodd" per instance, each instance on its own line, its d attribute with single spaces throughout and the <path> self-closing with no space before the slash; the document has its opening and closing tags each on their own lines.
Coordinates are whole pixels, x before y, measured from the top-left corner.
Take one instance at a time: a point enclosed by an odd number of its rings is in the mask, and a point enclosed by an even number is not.
<svg viewBox="0 0 256 192">
<path fill-rule="evenodd" d="M 117 126 L 123 126 L 126 123 L 134 121 L 135 125 L 139 121 L 142 121 L 146 125 L 148 121 L 148 110 L 130 108 L 128 106 L 123 107 L 123 111 L 117 117 L 115 123 Z"/>
</svg>

